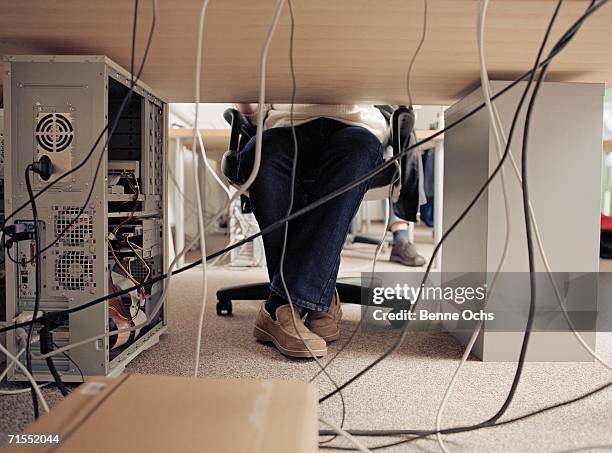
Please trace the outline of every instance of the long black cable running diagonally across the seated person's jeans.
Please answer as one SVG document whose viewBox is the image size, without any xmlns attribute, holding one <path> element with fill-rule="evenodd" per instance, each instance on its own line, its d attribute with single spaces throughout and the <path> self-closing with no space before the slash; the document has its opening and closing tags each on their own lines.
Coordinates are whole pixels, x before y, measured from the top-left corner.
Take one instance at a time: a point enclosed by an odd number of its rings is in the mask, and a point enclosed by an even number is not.
<svg viewBox="0 0 612 453">
<path fill-rule="evenodd" d="M 599 9 L 599 7 L 603 6 L 604 3 L 607 3 L 608 0 L 602 0 L 603 3 L 601 4 L 597 4 L 595 5 L 591 11 L 589 11 L 588 13 L 584 14 L 583 16 L 581 16 L 581 18 L 578 20 L 580 22 L 584 21 L 584 19 L 586 19 L 588 16 L 590 16 L 593 12 L 595 12 L 597 9 Z M 574 24 L 573 27 L 575 27 L 576 24 Z M 551 54 L 547 57 L 546 60 L 544 60 L 541 65 L 543 65 L 544 63 L 546 63 L 547 61 L 551 61 L 559 52 L 561 49 L 556 49 L 553 52 L 551 52 Z M 510 91 L 512 88 L 514 88 L 518 83 L 520 83 L 521 81 L 523 81 L 524 79 L 528 78 L 532 73 L 534 73 L 533 70 L 529 70 L 527 72 L 525 72 L 523 75 L 521 75 L 520 77 L 518 77 L 517 79 L 515 79 L 513 82 L 511 82 L 510 84 L 508 84 L 505 88 L 503 88 L 502 90 L 500 90 L 497 94 L 495 94 L 494 96 L 491 97 L 491 100 L 495 100 L 497 98 L 499 98 L 500 96 L 504 95 L 505 93 L 507 93 L 508 91 Z M 412 149 L 418 147 L 418 146 L 422 146 L 425 143 L 428 143 L 432 140 L 434 140 L 435 138 L 439 137 L 440 135 L 444 134 L 445 132 L 448 132 L 449 130 L 453 129 L 455 126 L 461 124 L 463 121 L 467 120 L 468 118 L 472 117 L 473 115 L 475 115 L 476 113 L 478 113 L 480 110 L 482 110 L 485 107 L 485 104 L 480 104 L 477 107 L 474 107 L 471 111 L 469 111 L 468 113 L 466 113 L 464 116 L 462 116 L 461 118 L 458 118 L 457 120 L 453 121 L 451 124 L 449 124 L 448 126 L 446 126 L 445 128 L 439 130 L 438 132 L 432 134 L 431 136 L 424 138 L 423 140 L 418 141 L 417 143 L 415 143 L 414 145 L 409 146 L 408 148 L 406 148 L 404 151 L 402 151 L 401 153 L 399 153 L 398 155 L 392 157 L 391 159 L 385 161 L 384 163 L 380 164 L 378 167 L 374 168 L 373 170 L 371 170 L 370 172 L 366 173 L 365 175 L 361 176 L 360 178 L 356 179 L 355 181 L 353 181 L 352 183 L 349 183 L 343 187 L 340 187 L 339 189 L 335 190 L 334 192 L 318 199 L 317 201 L 310 203 L 309 205 L 303 207 L 302 209 L 295 211 L 293 214 L 291 214 L 288 217 L 285 217 L 284 219 L 279 219 L 276 222 L 272 223 L 271 225 L 269 225 L 268 227 L 264 228 L 263 230 L 259 231 L 258 233 L 255 233 L 245 239 L 242 239 L 228 247 L 225 247 L 224 249 L 221 249 L 217 252 L 214 252 L 210 255 L 208 255 L 206 257 L 207 261 L 210 261 L 212 259 L 215 259 L 221 255 L 224 255 L 228 252 L 230 252 L 231 250 L 234 250 L 238 247 L 243 246 L 244 244 L 247 244 L 251 241 L 253 241 L 254 239 L 257 239 L 258 237 L 268 234 L 274 230 L 276 230 L 277 228 L 280 228 L 285 222 L 289 222 L 297 217 L 300 217 L 316 208 L 318 208 L 319 206 L 327 203 L 328 201 L 348 192 L 349 190 L 351 190 L 352 188 L 358 186 L 359 184 L 372 179 L 374 176 L 376 176 L 377 174 L 381 173 L 382 171 L 384 171 L 387 167 L 389 167 L 390 165 L 394 164 L 396 161 L 398 161 L 399 159 L 401 159 L 402 157 L 404 157 L 408 152 L 410 152 Z M 498 164 L 498 167 L 500 165 Z M 492 175 L 493 176 L 493 175 Z M 490 184 L 490 182 L 486 183 L 487 186 L 488 184 Z M 199 266 L 200 264 L 202 264 L 202 260 L 196 260 L 186 266 L 183 266 L 180 269 L 176 269 L 175 271 L 172 271 L 170 273 L 170 275 L 178 275 L 181 274 L 183 272 L 186 272 L 190 269 L 193 269 L 197 266 Z M 162 281 L 164 279 L 166 279 L 168 277 L 169 274 L 164 273 L 164 274 L 160 274 L 157 277 L 152 278 L 148 284 L 153 284 L 153 283 L 157 283 L 159 281 Z M 106 296 L 102 296 L 99 297 L 97 299 L 94 299 L 90 302 L 87 302 L 83 305 L 80 305 L 79 307 L 74 307 L 71 309 L 67 309 L 67 310 L 61 310 L 61 311 L 57 311 L 57 312 L 53 312 L 53 313 L 47 313 L 45 316 L 48 318 L 45 319 L 52 319 L 55 317 L 59 317 L 59 316 L 64 316 L 64 315 L 68 315 L 71 313 L 75 313 L 81 310 L 85 310 L 89 307 L 92 307 L 96 304 L 102 303 L 108 299 L 111 299 L 113 297 L 119 297 L 125 294 L 128 294 L 134 290 L 140 289 L 143 286 L 145 286 L 144 284 L 139 284 L 139 285 L 134 285 L 131 286 L 129 288 L 126 288 L 124 290 L 120 290 L 117 291 L 115 293 L 111 293 L 108 294 Z M 15 323 L 3 328 L 0 328 L 0 333 L 4 333 L 10 330 L 14 330 L 17 329 L 19 327 L 25 327 L 28 326 L 30 324 L 30 321 L 25 321 L 22 323 Z"/>
</svg>

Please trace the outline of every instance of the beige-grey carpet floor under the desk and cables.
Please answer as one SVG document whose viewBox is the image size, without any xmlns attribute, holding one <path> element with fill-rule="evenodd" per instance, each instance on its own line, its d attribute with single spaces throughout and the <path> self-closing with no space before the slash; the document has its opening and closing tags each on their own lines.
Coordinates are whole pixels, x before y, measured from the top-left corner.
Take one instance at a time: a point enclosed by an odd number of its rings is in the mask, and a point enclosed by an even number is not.
<svg viewBox="0 0 612 453">
<path fill-rule="evenodd" d="M 358 276 L 368 267 L 372 247 L 353 247 L 344 252 L 341 273 Z M 431 246 L 424 246 L 430 253 Z M 380 269 L 396 269 L 381 262 Z M 260 281 L 263 269 L 247 271 L 217 267 L 208 270 L 209 288 L 203 342 L 200 350 L 201 377 L 275 378 L 309 380 L 317 366 L 308 360 L 292 360 L 252 337 L 252 323 L 258 303 L 237 302 L 232 317 L 215 314 L 215 291 L 223 286 Z M 137 357 L 128 372 L 191 376 L 195 354 L 195 333 L 202 269 L 176 277 L 169 305 L 169 329 L 155 347 Z M 342 338 L 330 352 L 343 344 L 359 319 L 356 306 L 344 306 Z M 370 328 L 357 335 L 329 371 L 343 382 L 378 357 L 394 340 L 396 332 Z M 612 336 L 600 334 L 598 352 L 612 361 Z M 462 353 L 461 345 L 440 333 L 411 333 L 401 350 L 381 363 L 344 392 L 348 428 L 432 428 L 443 392 Z M 494 414 L 502 404 L 513 377 L 514 363 L 469 361 L 457 391 L 448 404 L 445 426 L 477 423 Z M 612 373 L 595 363 L 528 363 L 508 417 L 562 401 L 593 389 Z M 324 378 L 315 381 L 320 395 L 333 387 Z M 5 384 L 6 385 L 6 384 Z M 57 391 L 45 389 L 51 404 Z M 320 414 L 339 422 L 339 398 L 320 407 Z M 0 431 L 23 429 L 31 421 L 29 395 L 0 398 Z M 612 450 L 612 390 L 577 404 L 532 419 L 499 428 L 490 428 L 448 437 L 456 452 L 553 452 Z M 393 439 L 366 439 L 369 445 Z M 348 445 L 336 441 L 336 445 Z M 203 450 L 204 451 L 204 450 Z M 433 440 L 419 440 L 386 451 L 438 451 Z M 289 453 L 289 452 L 288 452 Z"/>
</svg>

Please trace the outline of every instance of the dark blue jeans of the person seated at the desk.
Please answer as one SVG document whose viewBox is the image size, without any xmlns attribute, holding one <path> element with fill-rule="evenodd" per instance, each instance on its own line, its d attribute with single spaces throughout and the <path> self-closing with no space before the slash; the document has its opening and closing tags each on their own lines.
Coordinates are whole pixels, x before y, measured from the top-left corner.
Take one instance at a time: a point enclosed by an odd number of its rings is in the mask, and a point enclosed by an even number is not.
<svg viewBox="0 0 612 453">
<path fill-rule="evenodd" d="M 295 127 L 298 163 L 293 210 L 327 195 L 382 162 L 382 147 L 363 127 L 319 118 Z M 291 128 L 264 131 L 261 166 L 249 189 L 261 229 L 287 214 L 293 164 Z M 245 181 L 253 168 L 255 138 L 239 154 L 238 173 Z M 340 252 L 368 182 L 289 222 L 284 275 L 291 301 L 327 311 L 334 294 Z M 270 291 L 287 299 L 280 278 L 284 227 L 264 235 Z"/>
</svg>

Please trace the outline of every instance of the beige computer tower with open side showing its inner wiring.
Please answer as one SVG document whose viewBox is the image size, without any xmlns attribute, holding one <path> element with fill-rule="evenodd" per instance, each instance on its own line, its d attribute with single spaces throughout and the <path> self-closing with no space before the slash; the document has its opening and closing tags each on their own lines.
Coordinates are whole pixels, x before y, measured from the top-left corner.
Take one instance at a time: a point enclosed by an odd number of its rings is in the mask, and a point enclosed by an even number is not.
<svg viewBox="0 0 612 453">
<path fill-rule="evenodd" d="M 36 194 L 81 165 L 102 134 L 91 158 L 37 199 L 38 225 L 29 206 L 9 222 L 25 224 L 21 228 L 26 231 L 38 228 L 41 248 L 61 236 L 42 256 L 41 312 L 78 307 L 162 274 L 168 264 L 167 103 L 137 82 L 105 149 L 109 135 L 105 128 L 108 124 L 110 129 L 129 92 L 128 71 L 104 56 L 8 56 L 5 64 L 7 213 L 29 199 L 24 178 L 28 164 L 42 156 L 53 164 L 46 181 L 31 174 Z M 78 216 L 82 206 L 85 209 Z M 16 242 L 7 252 L 15 262 L 6 262 L 6 317 L 27 319 L 35 295 L 33 240 Z M 70 314 L 53 330 L 53 342 L 61 347 L 139 324 L 151 314 L 163 287 L 163 281 L 146 285 Z M 55 365 L 67 382 L 80 380 L 81 371 L 84 375 L 118 374 L 158 341 L 166 319 L 164 306 L 146 328 L 71 349 L 69 357 L 56 356 Z M 7 335 L 9 350 L 18 353 L 25 346 L 24 338 L 24 330 Z M 33 343 L 32 350 L 39 353 L 38 343 Z M 33 371 L 36 379 L 50 380 L 44 361 L 33 360 Z M 10 378 L 23 380 L 24 376 L 14 371 Z"/>
</svg>

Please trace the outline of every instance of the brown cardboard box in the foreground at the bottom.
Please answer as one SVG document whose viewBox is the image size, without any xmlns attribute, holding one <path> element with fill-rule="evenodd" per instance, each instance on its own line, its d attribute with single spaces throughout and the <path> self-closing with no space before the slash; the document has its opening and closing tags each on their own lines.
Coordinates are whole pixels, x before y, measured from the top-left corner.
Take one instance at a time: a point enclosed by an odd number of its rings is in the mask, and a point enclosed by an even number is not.
<svg viewBox="0 0 612 453">
<path fill-rule="evenodd" d="M 25 431 L 59 432 L 61 445 L 19 451 L 311 453 L 317 410 L 303 382 L 92 378 Z"/>
</svg>

